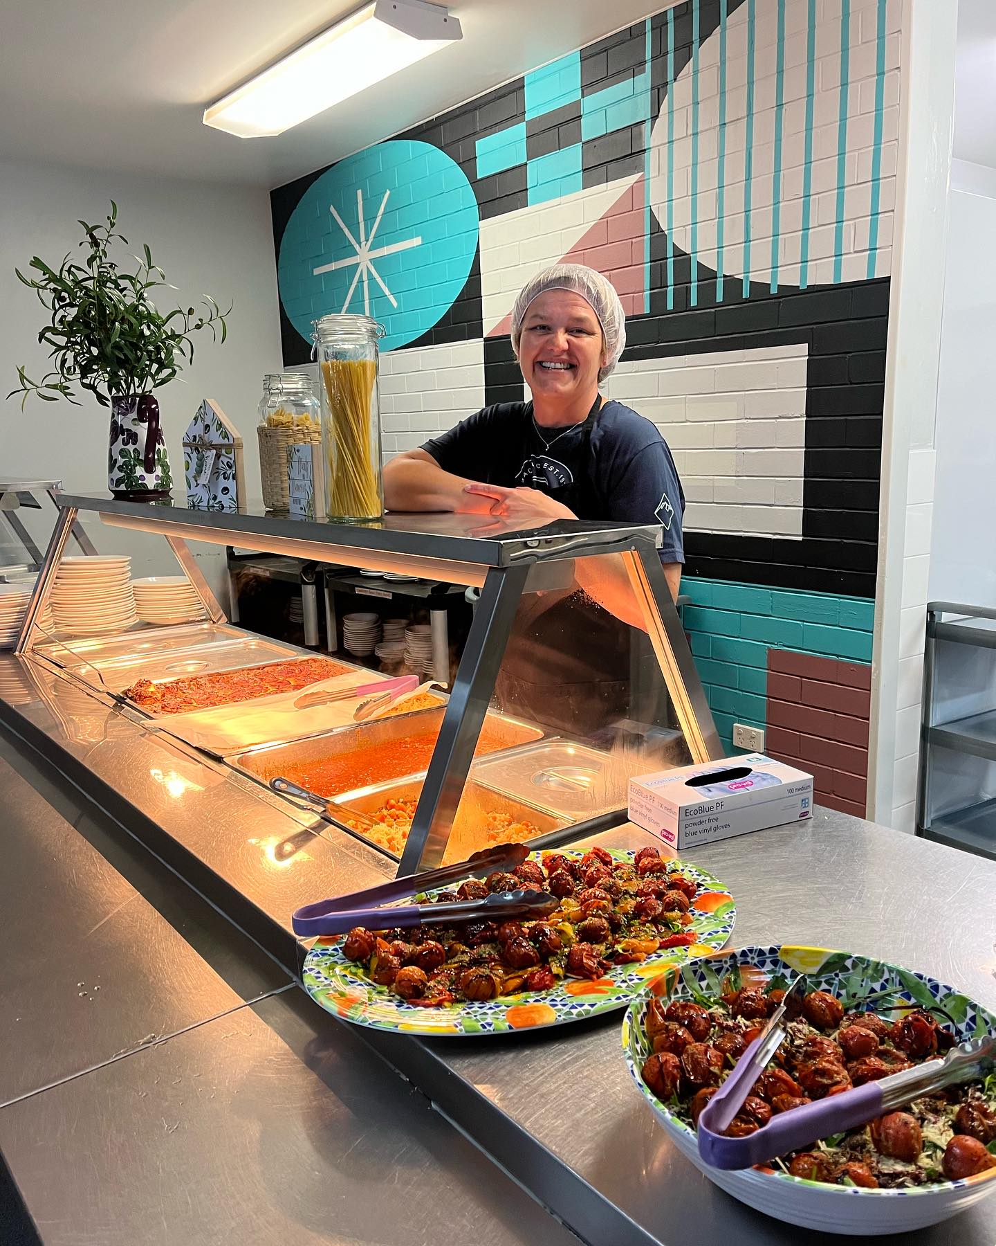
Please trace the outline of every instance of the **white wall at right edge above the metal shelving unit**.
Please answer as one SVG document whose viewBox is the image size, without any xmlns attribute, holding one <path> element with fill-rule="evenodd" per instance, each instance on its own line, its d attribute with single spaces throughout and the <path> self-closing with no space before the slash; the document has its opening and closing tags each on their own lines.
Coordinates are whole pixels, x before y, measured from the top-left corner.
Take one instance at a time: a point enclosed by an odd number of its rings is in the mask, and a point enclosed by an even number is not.
<svg viewBox="0 0 996 1246">
<path fill-rule="evenodd" d="M 949 203 L 930 597 L 996 606 L 996 169 L 969 171 Z"/>
</svg>

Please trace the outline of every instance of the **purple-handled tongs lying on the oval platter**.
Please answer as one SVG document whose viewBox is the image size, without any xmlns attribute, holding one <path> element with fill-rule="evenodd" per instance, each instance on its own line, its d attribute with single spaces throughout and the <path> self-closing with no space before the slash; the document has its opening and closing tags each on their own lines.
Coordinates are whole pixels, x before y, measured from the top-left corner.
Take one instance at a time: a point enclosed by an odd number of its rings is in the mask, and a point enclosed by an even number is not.
<svg viewBox="0 0 996 1246">
<path fill-rule="evenodd" d="M 483 900 L 456 900 L 432 905 L 395 905 L 392 900 L 417 896 L 422 891 L 444 887 L 463 878 L 486 878 L 496 870 L 514 870 L 529 856 L 523 844 L 499 844 L 493 849 L 474 852 L 467 861 L 444 865 L 428 873 L 412 873 L 393 882 L 354 891 L 351 896 L 320 900 L 305 905 L 291 918 L 295 934 L 310 938 L 315 934 L 345 934 L 354 926 L 386 931 L 395 927 L 420 926 L 423 921 L 433 926 L 441 922 L 503 921 L 507 917 L 529 915 L 535 920 L 552 913 L 560 903 L 545 891 L 498 891 Z M 360 907 L 357 907 L 357 905 Z"/>
</svg>

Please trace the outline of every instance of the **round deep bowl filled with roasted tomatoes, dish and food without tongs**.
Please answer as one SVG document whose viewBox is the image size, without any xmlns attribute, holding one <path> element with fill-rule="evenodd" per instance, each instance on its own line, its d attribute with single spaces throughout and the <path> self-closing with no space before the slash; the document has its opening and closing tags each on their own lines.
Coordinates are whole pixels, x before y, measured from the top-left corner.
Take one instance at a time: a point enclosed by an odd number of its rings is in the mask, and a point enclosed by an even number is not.
<svg viewBox="0 0 996 1246">
<path fill-rule="evenodd" d="M 698 1114 L 799 973 L 786 1038 L 727 1136 L 996 1033 L 996 1017 L 952 987 L 848 952 L 754 947 L 676 967 L 630 1006 L 622 1049 L 682 1154 L 759 1211 L 858 1236 L 936 1224 L 996 1192 L 996 1073 L 763 1165 L 723 1171 L 705 1163 Z"/>
</svg>

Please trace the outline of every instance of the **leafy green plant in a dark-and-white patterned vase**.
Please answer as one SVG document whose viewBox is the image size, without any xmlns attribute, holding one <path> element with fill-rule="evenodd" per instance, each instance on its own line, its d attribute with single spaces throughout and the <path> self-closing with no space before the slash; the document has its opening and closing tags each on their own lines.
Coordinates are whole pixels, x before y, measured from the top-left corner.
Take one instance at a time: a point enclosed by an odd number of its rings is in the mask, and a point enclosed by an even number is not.
<svg viewBox="0 0 996 1246">
<path fill-rule="evenodd" d="M 50 315 L 39 341 L 51 346 L 55 368 L 40 381 L 17 369 L 20 385 L 7 397 L 22 394 L 46 402 L 60 396 L 77 402 L 72 386 L 92 394 L 101 406 L 111 407 L 111 439 L 107 455 L 108 487 L 115 497 L 167 497 L 173 485 L 169 459 L 159 429 L 159 404 L 153 396 L 172 381 L 184 364 L 193 363 L 193 335 L 209 329 L 212 338 L 225 340 L 225 316 L 213 298 L 203 299 L 205 310 L 174 308 L 163 314 L 152 302 L 151 290 L 167 287 L 166 273 L 144 258 L 133 257 L 134 272 L 123 270 L 111 259 L 113 242 L 127 245 L 117 233 L 117 204 L 111 201 L 106 224 L 81 221 L 86 252 L 82 263 L 67 254 L 59 270 L 37 255 L 30 267 L 39 277 L 17 278 L 32 290 Z M 168 287 L 174 289 L 176 287 Z"/>
</svg>

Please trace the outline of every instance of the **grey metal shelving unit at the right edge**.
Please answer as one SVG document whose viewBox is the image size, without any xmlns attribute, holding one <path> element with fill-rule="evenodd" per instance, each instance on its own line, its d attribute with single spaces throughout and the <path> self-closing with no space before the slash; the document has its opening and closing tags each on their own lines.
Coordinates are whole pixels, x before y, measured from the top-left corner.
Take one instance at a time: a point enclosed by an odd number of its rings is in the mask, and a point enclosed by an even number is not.
<svg viewBox="0 0 996 1246">
<path fill-rule="evenodd" d="M 996 609 L 926 616 L 916 834 L 996 860 Z"/>
</svg>

